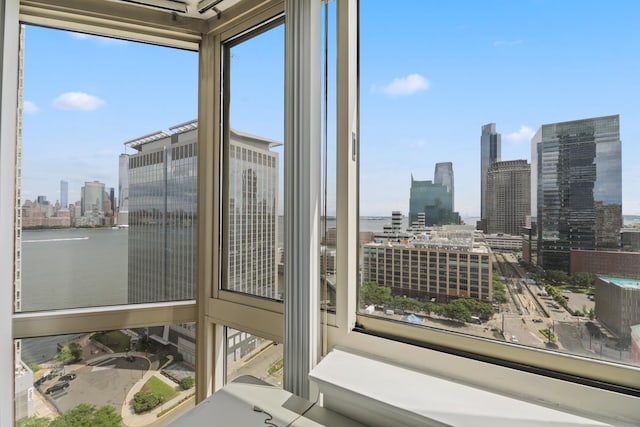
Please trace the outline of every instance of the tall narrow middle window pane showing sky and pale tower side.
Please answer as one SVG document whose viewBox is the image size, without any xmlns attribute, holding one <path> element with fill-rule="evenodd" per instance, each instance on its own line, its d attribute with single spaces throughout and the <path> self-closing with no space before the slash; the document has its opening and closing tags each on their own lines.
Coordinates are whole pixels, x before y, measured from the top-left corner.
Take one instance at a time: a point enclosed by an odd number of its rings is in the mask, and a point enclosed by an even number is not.
<svg viewBox="0 0 640 427">
<path fill-rule="evenodd" d="M 222 287 L 284 291 L 284 25 L 224 45 L 228 123 Z"/>
</svg>

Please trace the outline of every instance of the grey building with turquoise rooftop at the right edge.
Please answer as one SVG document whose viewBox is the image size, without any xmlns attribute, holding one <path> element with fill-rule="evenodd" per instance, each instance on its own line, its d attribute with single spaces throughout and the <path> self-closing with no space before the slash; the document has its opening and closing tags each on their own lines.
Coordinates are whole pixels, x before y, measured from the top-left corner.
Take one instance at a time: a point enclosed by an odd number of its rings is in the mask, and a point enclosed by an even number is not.
<svg viewBox="0 0 640 427">
<path fill-rule="evenodd" d="M 640 324 L 640 281 L 598 276 L 595 281 L 596 316 L 620 339 L 631 337 L 631 326 Z"/>
</svg>

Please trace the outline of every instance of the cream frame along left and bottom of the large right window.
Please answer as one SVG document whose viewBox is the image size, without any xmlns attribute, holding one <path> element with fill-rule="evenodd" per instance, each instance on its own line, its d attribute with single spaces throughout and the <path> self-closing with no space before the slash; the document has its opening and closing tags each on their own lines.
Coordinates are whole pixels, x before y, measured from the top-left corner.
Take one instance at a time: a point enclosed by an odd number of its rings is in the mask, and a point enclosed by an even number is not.
<svg viewBox="0 0 640 427">
<path fill-rule="evenodd" d="M 638 367 L 358 314 L 359 171 L 358 161 L 354 160 L 360 149 L 357 25 L 358 0 L 338 0 L 336 251 L 339 261 L 336 315 L 329 322 L 334 326 L 326 328 L 329 348 L 339 346 L 366 352 L 421 372 L 553 404 L 568 411 L 640 422 Z M 613 388 L 627 387 L 631 393 L 607 390 L 606 383 Z"/>
</svg>

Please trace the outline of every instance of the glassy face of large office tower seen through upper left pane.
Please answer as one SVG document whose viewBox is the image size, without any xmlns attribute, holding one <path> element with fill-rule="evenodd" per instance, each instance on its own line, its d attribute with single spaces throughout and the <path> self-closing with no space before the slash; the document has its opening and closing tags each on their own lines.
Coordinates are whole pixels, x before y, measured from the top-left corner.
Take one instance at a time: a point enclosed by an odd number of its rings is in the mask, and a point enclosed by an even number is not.
<svg viewBox="0 0 640 427">
<path fill-rule="evenodd" d="M 170 130 L 125 143 L 138 151 L 127 168 L 129 303 L 195 297 L 197 123 Z"/>
</svg>

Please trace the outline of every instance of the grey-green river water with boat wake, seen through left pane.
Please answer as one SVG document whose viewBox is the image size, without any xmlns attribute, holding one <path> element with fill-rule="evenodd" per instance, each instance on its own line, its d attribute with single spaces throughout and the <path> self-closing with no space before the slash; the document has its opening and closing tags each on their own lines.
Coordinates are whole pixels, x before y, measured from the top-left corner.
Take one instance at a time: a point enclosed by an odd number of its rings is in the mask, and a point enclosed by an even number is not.
<svg viewBox="0 0 640 427">
<path fill-rule="evenodd" d="M 22 311 L 127 302 L 127 230 L 24 230 Z"/>
</svg>

